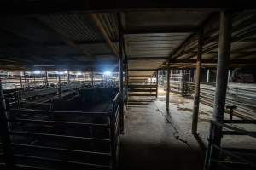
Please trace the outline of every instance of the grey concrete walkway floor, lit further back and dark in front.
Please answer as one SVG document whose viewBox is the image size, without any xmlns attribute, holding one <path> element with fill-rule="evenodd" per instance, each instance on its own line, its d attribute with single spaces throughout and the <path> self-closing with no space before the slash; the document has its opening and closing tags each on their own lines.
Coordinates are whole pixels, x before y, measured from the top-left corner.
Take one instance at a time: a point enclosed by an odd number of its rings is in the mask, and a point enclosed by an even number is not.
<svg viewBox="0 0 256 170">
<path fill-rule="evenodd" d="M 190 133 L 192 99 L 170 93 L 169 112 L 166 112 L 166 93 L 161 89 L 156 100 L 131 100 L 134 101 L 127 106 L 125 134 L 121 137 L 121 170 L 203 169 L 211 107 L 200 105 L 199 138 L 195 138 Z M 230 136 L 224 144 L 255 145 L 255 140 L 247 141 Z"/>
</svg>

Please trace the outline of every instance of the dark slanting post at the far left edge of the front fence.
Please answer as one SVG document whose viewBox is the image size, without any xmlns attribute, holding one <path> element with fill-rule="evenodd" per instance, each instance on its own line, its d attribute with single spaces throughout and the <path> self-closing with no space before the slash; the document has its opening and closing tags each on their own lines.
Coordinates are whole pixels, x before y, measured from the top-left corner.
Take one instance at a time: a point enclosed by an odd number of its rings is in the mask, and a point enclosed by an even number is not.
<svg viewBox="0 0 256 170">
<path fill-rule="evenodd" d="M 3 96 L 2 80 L 0 79 L 0 136 L 3 145 L 3 157 L 6 163 L 6 169 L 15 169 L 14 150 L 9 137 L 9 123 L 6 121 L 8 116 L 6 113 L 5 99 Z"/>
</svg>

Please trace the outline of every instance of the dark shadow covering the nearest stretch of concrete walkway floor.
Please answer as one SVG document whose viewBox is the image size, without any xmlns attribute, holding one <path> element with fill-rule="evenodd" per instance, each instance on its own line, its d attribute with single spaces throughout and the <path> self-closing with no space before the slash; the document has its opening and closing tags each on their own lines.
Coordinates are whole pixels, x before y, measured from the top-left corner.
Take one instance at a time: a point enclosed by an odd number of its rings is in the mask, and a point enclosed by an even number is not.
<svg viewBox="0 0 256 170">
<path fill-rule="evenodd" d="M 121 143 L 120 170 L 202 170 L 203 159 L 198 150 L 179 144 L 152 143 L 147 139 Z"/>
</svg>

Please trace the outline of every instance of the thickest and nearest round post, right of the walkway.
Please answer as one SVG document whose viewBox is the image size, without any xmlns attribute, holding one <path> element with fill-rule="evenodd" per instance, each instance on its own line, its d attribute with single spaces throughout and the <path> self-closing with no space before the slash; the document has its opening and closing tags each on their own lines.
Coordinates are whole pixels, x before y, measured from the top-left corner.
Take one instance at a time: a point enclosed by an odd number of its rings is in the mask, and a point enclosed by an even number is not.
<svg viewBox="0 0 256 170">
<path fill-rule="evenodd" d="M 218 40 L 218 65 L 216 76 L 216 90 L 213 107 L 213 121 L 223 122 L 224 105 L 228 83 L 228 68 L 230 59 L 230 42 L 232 32 L 232 17 L 229 11 L 220 13 L 220 29 Z M 220 146 L 222 127 L 214 126 L 212 129 L 212 143 Z M 218 159 L 219 150 L 212 148 L 211 158 Z M 208 169 L 215 169 L 215 165 L 210 161 Z"/>
</svg>

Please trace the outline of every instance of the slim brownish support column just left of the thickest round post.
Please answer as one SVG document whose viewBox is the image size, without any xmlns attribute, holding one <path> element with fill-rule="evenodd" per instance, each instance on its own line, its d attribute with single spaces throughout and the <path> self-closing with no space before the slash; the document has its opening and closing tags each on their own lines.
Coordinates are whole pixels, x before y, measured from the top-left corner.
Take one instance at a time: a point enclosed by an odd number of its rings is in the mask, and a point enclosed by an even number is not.
<svg viewBox="0 0 256 170">
<path fill-rule="evenodd" d="M 194 94 L 194 107 L 192 116 L 192 134 L 197 134 L 198 111 L 200 104 L 200 79 L 201 79 L 201 54 L 202 54 L 202 39 L 203 30 L 198 35 L 198 47 L 196 58 L 196 71 L 195 71 L 195 94 Z"/>
</svg>

